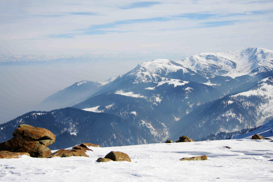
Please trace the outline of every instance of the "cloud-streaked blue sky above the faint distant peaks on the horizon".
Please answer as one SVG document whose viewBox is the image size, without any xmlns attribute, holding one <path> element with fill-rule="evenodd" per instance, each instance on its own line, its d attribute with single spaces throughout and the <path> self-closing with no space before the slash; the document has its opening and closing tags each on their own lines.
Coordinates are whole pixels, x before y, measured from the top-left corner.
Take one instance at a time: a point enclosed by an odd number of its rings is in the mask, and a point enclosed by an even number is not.
<svg viewBox="0 0 273 182">
<path fill-rule="evenodd" d="M 273 49 L 273 1 L 1 1 L 0 54 Z"/>
</svg>

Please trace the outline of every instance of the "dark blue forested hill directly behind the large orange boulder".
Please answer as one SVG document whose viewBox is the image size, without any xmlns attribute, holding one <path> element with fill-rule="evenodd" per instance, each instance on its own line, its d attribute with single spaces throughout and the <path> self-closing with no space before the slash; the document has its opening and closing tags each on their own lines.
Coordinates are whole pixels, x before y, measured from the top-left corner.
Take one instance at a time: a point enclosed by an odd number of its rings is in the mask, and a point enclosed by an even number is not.
<svg viewBox="0 0 273 182">
<path fill-rule="evenodd" d="M 138 129 L 128 121 L 107 113 L 94 113 L 76 108 L 50 112 L 32 111 L 0 125 L 0 142 L 11 139 L 21 124 L 49 129 L 56 136 L 51 150 L 67 148 L 82 142 L 103 147 L 137 144 Z"/>
</svg>

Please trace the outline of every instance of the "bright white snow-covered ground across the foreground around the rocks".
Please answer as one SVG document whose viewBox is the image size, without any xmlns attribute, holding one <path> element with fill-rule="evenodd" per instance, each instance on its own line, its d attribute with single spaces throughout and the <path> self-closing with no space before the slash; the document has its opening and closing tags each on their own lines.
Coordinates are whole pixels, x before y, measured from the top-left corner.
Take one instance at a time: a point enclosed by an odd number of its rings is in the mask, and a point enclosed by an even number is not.
<svg viewBox="0 0 273 182">
<path fill-rule="evenodd" d="M 87 157 L 0 159 L 0 181 L 272 181 L 273 140 L 233 139 L 92 148 Z M 231 149 L 225 148 L 231 147 Z M 50 147 L 50 146 L 49 146 Z M 96 162 L 110 151 L 132 162 Z M 206 154 L 208 160 L 179 161 Z"/>
</svg>

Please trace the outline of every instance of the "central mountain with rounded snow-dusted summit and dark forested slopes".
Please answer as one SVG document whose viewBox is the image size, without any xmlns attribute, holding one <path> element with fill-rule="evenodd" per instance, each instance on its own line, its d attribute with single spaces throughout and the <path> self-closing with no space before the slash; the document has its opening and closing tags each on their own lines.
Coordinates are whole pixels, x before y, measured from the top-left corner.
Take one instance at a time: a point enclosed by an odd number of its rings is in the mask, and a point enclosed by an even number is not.
<svg viewBox="0 0 273 182">
<path fill-rule="evenodd" d="M 250 76 L 233 79 L 156 59 L 138 65 L 73 107 L 115 114 L 140 128 L 140 141 L 162 142 L 180 118 L 249 80 Z"/>
</svg>

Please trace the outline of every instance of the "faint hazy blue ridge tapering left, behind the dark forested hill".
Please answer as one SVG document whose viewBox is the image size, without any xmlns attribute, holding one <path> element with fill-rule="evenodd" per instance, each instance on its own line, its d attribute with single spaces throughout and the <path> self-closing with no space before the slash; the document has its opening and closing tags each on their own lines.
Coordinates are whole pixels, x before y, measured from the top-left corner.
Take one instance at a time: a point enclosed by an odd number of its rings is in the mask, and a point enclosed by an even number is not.
<svg viewBox="0 0 273 182">
<path fill-rule="evenodd" d="M 36 109 L 40 111 L 50 111 L 53 109 L 71 107 L 85 101 L 91 95 L 99 91 L 105 84 L 115 80 L 115 78 L 116 77 L 110 78 L 105 82 L 93 82 L 87 80 L 76 82 L 64 90 L 60 90 L 59 92 L 44 99 L 44 101 L 41 102 Z"/>
</svg>

